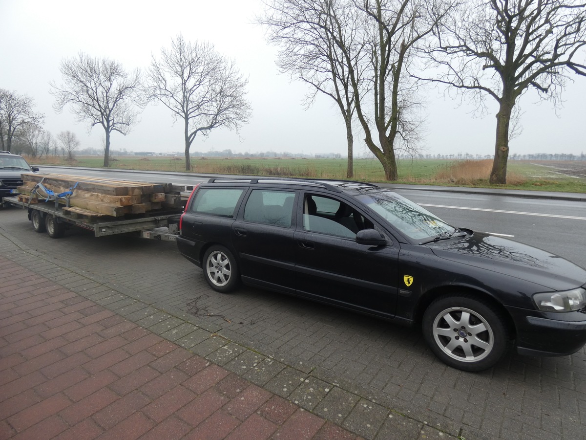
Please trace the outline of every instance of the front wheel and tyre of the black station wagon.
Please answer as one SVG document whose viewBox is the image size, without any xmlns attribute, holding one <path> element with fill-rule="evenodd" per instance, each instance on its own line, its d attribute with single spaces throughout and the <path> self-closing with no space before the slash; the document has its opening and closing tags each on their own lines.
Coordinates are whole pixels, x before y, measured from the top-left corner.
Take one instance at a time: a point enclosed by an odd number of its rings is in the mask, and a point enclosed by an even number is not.
<svg viewBox="0 0 586 440">
<path fill-rule="evenodd" d="M 486 370 L 507 348 L 505 320 L 482 299 L 466 295 L 438 298 L 425 310 L 422 324 L 431 351 L 458 370 Z"/>
</svg>

